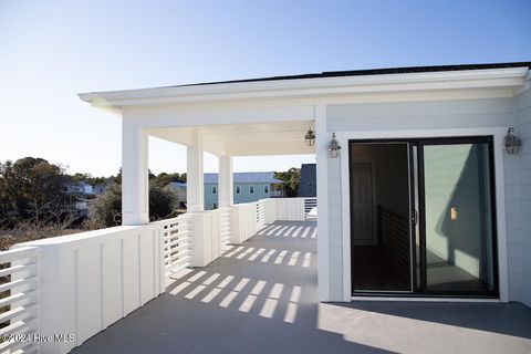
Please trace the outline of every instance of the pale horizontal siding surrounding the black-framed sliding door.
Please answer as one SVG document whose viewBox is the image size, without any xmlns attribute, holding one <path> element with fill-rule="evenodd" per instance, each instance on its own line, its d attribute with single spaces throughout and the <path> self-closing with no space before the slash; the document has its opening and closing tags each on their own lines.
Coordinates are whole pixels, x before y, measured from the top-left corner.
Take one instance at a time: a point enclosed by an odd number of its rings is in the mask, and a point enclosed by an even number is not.
<svg viewBox="0 0 531 354">
<path fill-rule="evenodd" d="M 525 136 L 527 142 L 519 156 L 503 155 L 503 167 L 509 248 L 509 299 L 516 301 L 522 299 L 529 304 L 531 302 L 531 100 L 529 92 L 525 95 L 519 100 L 522 108 L 518 131 Z M 517 124 L 514 98 L 329 105 L 326 116 L 326 131 L 330 133 L 508 127 Z M 355 135 L 356 133 L 353 133 L 350 137 L 356 138 Z M 345 146 L 344 154 L 346 149 Z M 527 186 L 523 186 L 523 180 Z M 522 188 L 520 191 L 519 184 Z M 343 293 L 341 196 L 348 196 L 348 190 L 341 191 L 340 159 L 329 159 L 329 192 L 330 294 L 331 300 L 339 300 L 339 294 Z M 519 195 L 522 199 L 520 201 Z M 498 204 L 500 204 L 499 200 Z M 522 210 L 528 210 L 527 214 L 520 214 L 520 204 L 522 204 Z M 520 219 L 522 220 L 521 230 Z M 522 242 L 520 242 L 520 235 L 522 235 Z M 523 238 L 527 239 L 523 240 Z M 521 246 L 521 253 L 519 246 Z M 527 256 L 522 261 L 523 252 L 527 252 Z"/>
</svg>

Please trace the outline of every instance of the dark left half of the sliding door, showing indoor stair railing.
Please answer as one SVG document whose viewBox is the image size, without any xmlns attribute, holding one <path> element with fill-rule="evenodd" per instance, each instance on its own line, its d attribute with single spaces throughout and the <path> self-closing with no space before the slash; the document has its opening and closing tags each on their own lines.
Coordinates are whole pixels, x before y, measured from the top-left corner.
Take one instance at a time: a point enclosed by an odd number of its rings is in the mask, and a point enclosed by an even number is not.
<svg viewBox="0 0 531 354">
<path fill-rule="evenodd" d="M 410 292 L 408 146 L 351 144 L 350 155 L 353 289 Z"/>
</svg>

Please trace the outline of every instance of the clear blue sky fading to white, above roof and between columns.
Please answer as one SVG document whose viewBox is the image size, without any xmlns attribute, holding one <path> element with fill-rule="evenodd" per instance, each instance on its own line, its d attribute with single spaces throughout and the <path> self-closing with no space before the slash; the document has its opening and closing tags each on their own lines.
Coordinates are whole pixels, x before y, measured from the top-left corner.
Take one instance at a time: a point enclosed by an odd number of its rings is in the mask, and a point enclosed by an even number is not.
<svg viewBox="0 0 531 354">
<path fill-rule="evenodd" d="M 531 1 L 0 0 L 0 160 L 95 176 L 121 164 L 119 117 L 76 93 L 335 70 L 531 61 Z M 238 158 L 285 169 L 312 156 Z M 155 173 L 185 149 L 150 140 Z M 217 163 L 206 159 L 207 171 Z"/>
</svg>

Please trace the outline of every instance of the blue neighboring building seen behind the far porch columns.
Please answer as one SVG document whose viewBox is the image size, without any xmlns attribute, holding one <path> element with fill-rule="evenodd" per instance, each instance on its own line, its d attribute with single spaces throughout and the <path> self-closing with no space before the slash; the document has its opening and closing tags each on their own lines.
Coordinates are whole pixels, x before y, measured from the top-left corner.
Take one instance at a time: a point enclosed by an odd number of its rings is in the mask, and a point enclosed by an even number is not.
<svg viewBox="0 0 531 354">
<path fill-rule="evenodd" d="M 235 204 L 251 202 L 270 198 L 273 188 L 283 180 L 274 178 L 274 173 L 235 173 Z M 205 174 L 205 210 L 218 208 L 218 174 Z"/>
</svg>

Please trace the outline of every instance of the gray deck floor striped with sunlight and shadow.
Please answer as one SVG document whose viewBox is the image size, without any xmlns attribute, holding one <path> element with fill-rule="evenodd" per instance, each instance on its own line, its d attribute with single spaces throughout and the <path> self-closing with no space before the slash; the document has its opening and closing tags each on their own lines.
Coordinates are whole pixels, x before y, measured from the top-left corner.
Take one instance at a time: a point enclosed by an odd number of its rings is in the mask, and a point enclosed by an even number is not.
<svg viewBox="0 0 531 354">
<path fill-rule="evenodd" d="M 319 303 L 314 228 L 264 229 L 73 353 L 531 352 L 521 304 Z"/>
</svg>

